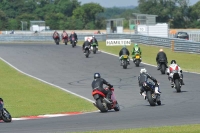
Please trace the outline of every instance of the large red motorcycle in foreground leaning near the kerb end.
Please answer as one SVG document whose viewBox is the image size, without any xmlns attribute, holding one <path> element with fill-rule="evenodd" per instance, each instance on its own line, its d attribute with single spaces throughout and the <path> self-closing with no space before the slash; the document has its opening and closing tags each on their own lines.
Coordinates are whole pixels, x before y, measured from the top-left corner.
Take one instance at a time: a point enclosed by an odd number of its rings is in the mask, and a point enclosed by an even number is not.
<svg viewBox="0 0 200 133">
<path fill-rule="evenodd" d="M 109 89 L 109 88 L 105 88 Z M 92 96 L 95 99 L 94 106 L 97 107 L 101 112 L 108 112 L 108 110 L 114 109 L 115 111 L 119 111 L 120 107 L 114 95 L 114 88 L 110 89 L 112 91 L 111 101 L 106 97 L 104 93 L 95 88 L 92 92 Z"/>
</svg>

